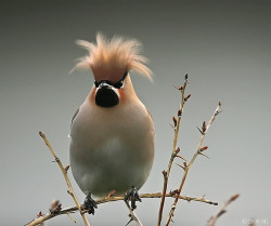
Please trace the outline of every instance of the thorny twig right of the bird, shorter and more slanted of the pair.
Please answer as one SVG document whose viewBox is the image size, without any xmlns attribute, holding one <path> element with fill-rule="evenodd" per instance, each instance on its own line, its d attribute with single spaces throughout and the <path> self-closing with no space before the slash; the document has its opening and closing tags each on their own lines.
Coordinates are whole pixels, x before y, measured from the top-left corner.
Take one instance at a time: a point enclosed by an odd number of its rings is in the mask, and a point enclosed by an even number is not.
<svg viewBox="0 0 271 226">
<path fill-rule="evenodd" d="M 176 196 L 176 199 L 175 199 L 175 202 L 173 204 L 171 205 L 171 210 L 169 212 L 169 215 L 168 215 L 168 218 L 167 218 L 167 222 L 166 222 L 166 226 L 168 226 L 170 224 L 170 222 L 172 221 L 172 217 L 173 217 L 173 213 L 175 213 L 175 210 L 176 210 L 176 207 L 177 207 L 177 203 L 179 201 L 179 197 L 180 197 L 180 194 L 182 191 L 182 188 L 183 188 L 183 185 L 184 185 L 184 182 L 186 180 L 186 176 L 188 176 L 188 173 L 189 173 L 189 170 L 191 168 L 191 165 L 193 164 L 193 162 L 195 161 L 196 157 L 198 155 L 203 155 L 202 154 L 202 145 L 203 145 L 203 141 L 205 138 L 205 134 L 207 133 L 209 127 L 211 125 L 211 123 L 215 121 L 216 119 L 216 116 L 221 112 L 221 103 L 219 102 L 216 110 L 215 110 L 215 114 L 211 116 L 207 127 L 204 129 L 204 131 L 202 132 L 202 136 L 201 136 L 201 139 L 199 139 L 199 143 L 198 143 L 198 146 L 197 146 L 197 149 L 196 149 L 196 152 L 194 154 L 194 156 L 192 157 L 191 161 L 189 162 L 189 164 L 186 165 L 185 170 L 184 170 L 184 173 L 183 173 L 183 176 L 182 176 L 182 181 L 181 181 L 181 184 L 180 184 L 180 187 L 178 189 L 178 192 L 177 192 L 177 196 Z M 205 122 L 204 122 L 205 124 Z"/>
</svg>

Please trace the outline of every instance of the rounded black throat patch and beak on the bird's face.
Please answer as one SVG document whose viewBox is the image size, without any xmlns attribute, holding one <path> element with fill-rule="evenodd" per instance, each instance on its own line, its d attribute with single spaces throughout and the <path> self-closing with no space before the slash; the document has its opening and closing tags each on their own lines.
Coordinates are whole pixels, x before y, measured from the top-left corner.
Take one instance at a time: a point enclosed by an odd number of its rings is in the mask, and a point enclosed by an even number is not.
<svg viewBox="0 0 271 226">
<path fill-rule="evenodd" d="M 103 81 L 96 88 L 95 104 L 100 107 L 114 107 L 119 103 L 119 95 L 109 82 Z"/>
</svg>

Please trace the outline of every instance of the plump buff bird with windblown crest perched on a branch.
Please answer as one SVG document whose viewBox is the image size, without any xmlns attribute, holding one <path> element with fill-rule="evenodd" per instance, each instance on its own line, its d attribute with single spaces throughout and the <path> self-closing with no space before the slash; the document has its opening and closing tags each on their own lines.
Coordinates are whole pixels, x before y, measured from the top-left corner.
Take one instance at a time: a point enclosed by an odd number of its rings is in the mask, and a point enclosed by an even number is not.
<svg viewBox="0 0 271 226">
<path fill-rule="evenodd" d="M 153 79 L 136 39 L 108 39 L 99 32 L 96 43 L 77 40 L 77 44 L 88 54 L 74 69 L 91 70 L 94 82 L 72 120 L 69 162 L 87 195 L 85 205 L 94 214 L 91 195 L 105 198 L 114 190 L 128 199 L 149 177 L 155 155 L 154 123 L 133 89 L 130 71 Z"/>
</svg>

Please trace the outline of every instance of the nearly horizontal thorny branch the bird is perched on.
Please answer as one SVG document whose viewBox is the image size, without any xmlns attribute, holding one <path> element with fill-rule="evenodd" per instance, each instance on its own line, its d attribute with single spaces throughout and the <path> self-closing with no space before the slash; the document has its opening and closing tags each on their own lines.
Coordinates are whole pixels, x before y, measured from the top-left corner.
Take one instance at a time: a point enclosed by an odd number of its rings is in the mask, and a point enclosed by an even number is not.
<svg viewBox="0 0 271 226">
<path fill-rule="evenodd" d="M 155 192 L 155 194 L 141 194 L 140 195 L 140 198 L 160 198 L 162 197 L 162 192 Z M 171 197 L 171 198 L 175 198 L 176 197 L 176 194 L 175 192 L 167 192 L 166 194 L 166 197 Z M 205 198 L 201 197 L 201 198 L 194 198 L 194 197 L 188 197 L 188 196 L 180 196 L 179 197 L 180 199 L 183 199 L 183 200 L 186 200 L 186 201 L 198 201 L 198 202 L 204 202 L 204 203 L 207 203 L 207 204 L 214 204 L 214 205 L 218 205 L 217 202 L 214 202 L 214 201 L 210 201 L 210 200 L 206 200 Z M 125 199 L 125 196 L 117 196 L 117 197 L 108 197 L 108 198 L 105 198 L 105 199 L 100 199 L 100 200 L 95 200 L 96 204 L 103 204 L 103 203 L 106 203 L 106 202 L 113 202 L 113 201 L 121 201 Z M 36 218 L 35 221 L 31 222 L 31 226 L 33 225 L 37 225 L 37 224 L 40 224 L 47 220 L 50 220 L 52 217 L 55 217 L 57 215 L 63 215 L 63 214 L 67 214 L 67 213 L 72 213 L 72 212 L 75 212 L 75 211 L 78 211 L 78 208 L 77 207 L 72 207 L 72 208 L 67 208 L 67 209 L 64 209 L 62 211 L 60 211 L 59 213 L 56 214 L 47 214 L 47 215 L 43 215 L 43 216 L 40 216 L 38 218 Z M 28 225 L 29 225 L 28 224 Z"/>
</svg>

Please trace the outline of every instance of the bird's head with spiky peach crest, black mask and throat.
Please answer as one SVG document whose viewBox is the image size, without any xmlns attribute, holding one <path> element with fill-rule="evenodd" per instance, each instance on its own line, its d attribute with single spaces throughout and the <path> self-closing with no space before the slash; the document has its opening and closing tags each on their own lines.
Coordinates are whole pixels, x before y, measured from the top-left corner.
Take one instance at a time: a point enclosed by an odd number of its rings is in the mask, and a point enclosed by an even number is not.
<svg viewBox="0 0 271 226">
<path fill-rule="evenodd" d="M 91 69 L 94 76 L 93 98 L 100 107 L 114 107 L 126 95 L 136 95 L 130 70 L 136 70 L 152 80 L 152 71 L 145 66 L 146 58 L 139 55 L 141 43 L 134 39 L 114 37 L 107 40 L 96 35 L 96 44 L 78 40 L 89 51 L 79 58 L 75 68 Z"/>
</svg>

